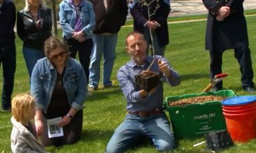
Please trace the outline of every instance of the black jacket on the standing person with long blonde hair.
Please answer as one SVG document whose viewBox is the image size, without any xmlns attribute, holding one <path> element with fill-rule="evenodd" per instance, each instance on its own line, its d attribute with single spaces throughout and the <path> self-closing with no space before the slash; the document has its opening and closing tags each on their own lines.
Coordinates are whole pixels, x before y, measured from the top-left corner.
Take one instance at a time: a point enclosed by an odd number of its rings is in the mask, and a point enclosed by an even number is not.
<svg viewBox="0 0 256 153">
<path fill-rule="evenodd" d="M 17 13 L 17 33 L 23 40 L 23 46 L 36 50 L 44 50 L 44 41 L 51 36 L 52 16 L 51 10 L 40 10 L 42 26 L 35 27 L 33 18 L 29 12 L 21 10 Z"/>
</svg>

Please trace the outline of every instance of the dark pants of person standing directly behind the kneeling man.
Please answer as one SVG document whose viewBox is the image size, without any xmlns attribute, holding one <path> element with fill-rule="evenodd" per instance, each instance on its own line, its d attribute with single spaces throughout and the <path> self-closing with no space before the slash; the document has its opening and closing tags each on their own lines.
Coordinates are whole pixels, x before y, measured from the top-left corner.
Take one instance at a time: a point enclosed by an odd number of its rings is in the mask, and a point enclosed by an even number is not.
<svg viewBox="0 0 256 153">
<path fill-rule="evenodd" d="M 150 30 L 145 27 L 143 29 L 143 35 L 145 36 L 145 39 L 147 41 L 147 44 L 152 44 L 151 38 L 150 38 Z M 162 55 L 165 56 L 165 46 L 160 47 L 158 43 L 158 38 L 155 31 L 152 31 L 153 41 L 154 41 L 154 54 L 156 55 Z M 147 54 L 149 54 L 150 48 L 147 48 Z M 150 53 L 153 55 L 152 51 L 150 50 Z"/>
</svg>

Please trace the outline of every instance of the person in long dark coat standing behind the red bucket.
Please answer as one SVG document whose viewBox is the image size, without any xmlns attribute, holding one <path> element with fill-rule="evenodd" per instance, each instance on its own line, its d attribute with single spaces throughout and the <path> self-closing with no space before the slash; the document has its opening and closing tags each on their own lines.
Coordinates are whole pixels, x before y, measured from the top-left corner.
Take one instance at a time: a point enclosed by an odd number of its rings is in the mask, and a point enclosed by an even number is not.
<svg viewBox="0 0 256 153">
<path fill-rule="evenodd" d="M 209 11 L 205 49 L 210 50 L 211 78 L 222 72 L 223 52 L 234 49 L 242 74 L 242 87 L 248 93 L 255 93 L 243 2 L 243 0 L 203 0 L 203 4 Z M 222 81 L 212 88 L 213 91 L 222 89 Z"/>
</svg>

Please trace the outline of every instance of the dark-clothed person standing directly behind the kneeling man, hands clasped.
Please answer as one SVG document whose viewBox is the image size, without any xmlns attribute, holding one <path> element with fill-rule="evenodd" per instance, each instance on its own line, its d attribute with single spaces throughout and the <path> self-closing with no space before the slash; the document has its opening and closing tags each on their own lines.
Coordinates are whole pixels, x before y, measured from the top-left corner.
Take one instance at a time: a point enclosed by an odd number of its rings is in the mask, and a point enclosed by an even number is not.
<svg viewBox="0 0 256 153">
<path fill-rule="evenodd" d="M 154 54 L 156 55 L 164 56 L 165 46 L 169 44 L 167 18 L 170 11 L 169 0 L 130 0 L 130 14 L 134 20 L 134 31 L 143 33 L 147 44 L 154 43 Z M 150 31 L 152 31 L 153 42 L 150 38 Z M 153 53 L 151 52 L 151 54 Z"/>
</svg>

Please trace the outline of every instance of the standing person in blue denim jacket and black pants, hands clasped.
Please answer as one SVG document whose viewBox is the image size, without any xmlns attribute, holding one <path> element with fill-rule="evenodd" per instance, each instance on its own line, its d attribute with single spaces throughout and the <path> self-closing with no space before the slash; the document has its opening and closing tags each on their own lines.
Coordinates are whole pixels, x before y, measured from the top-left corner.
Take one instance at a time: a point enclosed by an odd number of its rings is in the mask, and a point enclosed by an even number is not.
<svg viewBox="0 0 256 153">
<path fill-rule="evenodd" d="M 63 0 L 59 4 L 59 18 L 63 29 L 63 41 L 68 44 L 70 57 L 76 58 L 85 70 L 89 80 L 89 62 L 93 46 L 92 29 L 95 25 L 94 7 L 85 0 Z"/>
</svg>

